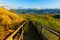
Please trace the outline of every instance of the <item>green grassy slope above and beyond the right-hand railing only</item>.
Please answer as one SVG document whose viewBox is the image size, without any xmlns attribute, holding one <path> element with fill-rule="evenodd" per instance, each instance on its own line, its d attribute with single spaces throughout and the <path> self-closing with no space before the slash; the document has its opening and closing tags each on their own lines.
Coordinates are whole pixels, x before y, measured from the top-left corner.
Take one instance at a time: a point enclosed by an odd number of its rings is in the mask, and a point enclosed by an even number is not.
<svg viewBox="0 0 60 40">
<path fill-rule="evenodd" d="M 38 23 L 42 23 L 43 25 L 46 25 L 47 27 L 51 27 L 57 31 L 60 30 L 60 19 L 56 19 L 50 14 L 37 14 L 37 15 L 30 15 L 30 14 L 25 14 L 23 15 L 25 19 L 27 20 L 33 20 Z M 60 32 L 60 31 L 59 31 Z"/>
</svg>

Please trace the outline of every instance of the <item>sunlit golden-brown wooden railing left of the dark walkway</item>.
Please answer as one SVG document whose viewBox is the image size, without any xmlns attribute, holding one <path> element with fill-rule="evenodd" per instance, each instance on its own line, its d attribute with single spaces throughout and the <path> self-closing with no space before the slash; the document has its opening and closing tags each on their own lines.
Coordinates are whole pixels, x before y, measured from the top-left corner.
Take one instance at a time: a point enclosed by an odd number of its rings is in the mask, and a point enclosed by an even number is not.
<svg viewBox="0 0 60 40">
<path fill-rule="evenodd" d="M 19 40 L 23 40 L 23 33 L 24 33 L 24 30 L 23 30 L 23 26 L 25 25 L 25 22 L 22 23 L 22 25 L 15 31 L 13 32 L 11 35 L 9 35 L 5 40 L 14 40 L 13 37 L 17 34 L 17 32 L 22 28 L 22 33 L 20 35 L 20 38 Z"/>
</svg>

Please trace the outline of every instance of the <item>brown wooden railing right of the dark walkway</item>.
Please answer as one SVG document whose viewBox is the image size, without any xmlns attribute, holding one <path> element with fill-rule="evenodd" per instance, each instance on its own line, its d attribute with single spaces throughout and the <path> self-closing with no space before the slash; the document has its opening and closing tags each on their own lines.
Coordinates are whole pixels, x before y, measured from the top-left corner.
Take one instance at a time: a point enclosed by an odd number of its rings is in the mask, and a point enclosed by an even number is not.
<svg viewBox="0 0 60 40">
<path fill-rule="evenodd" d="M 33 23 L 37 23 L 36 21 L 32 20 Z M 51 27 L 47 27 L 46 25 L 43 25 L 41 23 L 37 23 L 40 27 L 41 27 L 41 30 L 40 32 L 43 33 L 43 30 L 46 29 L 47 31 L 51 32 L 52 34 L 56 35 L 58 37 L 58 40 L 60 40 L 60 32 L 57 31 L 57 30 L 54 30 L 53 28 Z M 44 33 L 43 33 L 44 34 Z"/>
</svg>

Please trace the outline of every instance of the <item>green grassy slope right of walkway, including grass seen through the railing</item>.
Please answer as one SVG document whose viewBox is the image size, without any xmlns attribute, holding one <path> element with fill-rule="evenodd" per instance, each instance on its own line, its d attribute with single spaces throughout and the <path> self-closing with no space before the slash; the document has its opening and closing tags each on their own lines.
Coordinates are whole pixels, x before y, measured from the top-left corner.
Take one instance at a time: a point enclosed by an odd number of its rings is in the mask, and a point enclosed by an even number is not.
<svg viewBox="0 0 60 40">
<path fill-rule="evenodd" d="M 39 14 L 39 15 L 24 14 L 20 16 L 23 16 L 26 19 L 26 21 L 32 20 L 60 32 L 60 19 L 54 18 L 55 14 L 52 15 L 51 14 Z M 38 32 L 40 32 L 41 26 L 37 24 L 36 28 L 38 29 Z M 48 38 L 48 40 L 58 40 L 58 37 L 55 34 L 51 33 L 46 29 L 44 29 L 43 31 L 44 31 L 43 34 Z"/>
</svg>

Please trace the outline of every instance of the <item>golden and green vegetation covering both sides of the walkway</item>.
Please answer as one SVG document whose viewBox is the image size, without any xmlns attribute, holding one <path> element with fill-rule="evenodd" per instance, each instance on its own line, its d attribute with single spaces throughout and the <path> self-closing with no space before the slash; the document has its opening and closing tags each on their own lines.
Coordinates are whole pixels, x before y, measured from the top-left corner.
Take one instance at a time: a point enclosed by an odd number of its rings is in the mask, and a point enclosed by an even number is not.
<svg viewBox="0 0 60 40">
<path fill-rule="evenodd" d="M 46 25 L 47 27 L 50 27 L 58 32 L 60 32 L 60 18 L 56 14 L 17 14 L 14 12 L 13 9 L 10 11 L 6 10 L 5 8 L 0 7 L 0 39 L 2 37 L 4 38 L 6 35 L 8 35 L 10 32 L 15 31 L 19 26 L 20 23 L 25 20 L 27 21 L 35 21 L 39 24 Z M 28 26 L 28 23 L 26 24 Z M 37 25 L 36 27 L 38 31 L 41 30 L 41 26 Z M 29 30 L 29 27 L 24 29 L 25 32 Z M 4 34 L 6 32 L 6 34 Z M 4 35 L 2 35 L 4 34 Z M 46 29 L 44 29 L 44 35 L 49 38 L 49 40 L 57 40 L 57 37 L 48 32 Z M 52 36 L 51 36 L 52 35 Z M 56 38 L 56 39 L 53 39 Z M 3 39 L 2 39 L 3 40 Z"/>
</svg>

